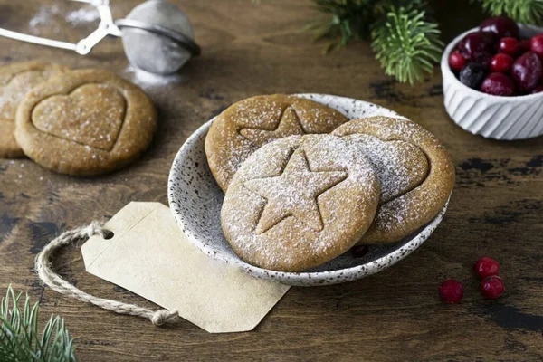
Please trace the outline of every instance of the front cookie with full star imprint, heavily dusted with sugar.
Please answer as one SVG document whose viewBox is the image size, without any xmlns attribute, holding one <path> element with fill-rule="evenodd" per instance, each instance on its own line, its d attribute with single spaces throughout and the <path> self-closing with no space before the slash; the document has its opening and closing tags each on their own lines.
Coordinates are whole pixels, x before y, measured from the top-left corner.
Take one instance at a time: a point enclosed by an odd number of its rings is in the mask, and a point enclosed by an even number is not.
<svg viewBox="0 0 543 362">
<path fill-rule="evenodd" d="M 330 135 L 291 136 L 255 151 L 233 176 L 221 224 L 233 251 L 273 271 L 304 271 L 348 251 L 376 214 L 376 172 Z"/>
</svg>

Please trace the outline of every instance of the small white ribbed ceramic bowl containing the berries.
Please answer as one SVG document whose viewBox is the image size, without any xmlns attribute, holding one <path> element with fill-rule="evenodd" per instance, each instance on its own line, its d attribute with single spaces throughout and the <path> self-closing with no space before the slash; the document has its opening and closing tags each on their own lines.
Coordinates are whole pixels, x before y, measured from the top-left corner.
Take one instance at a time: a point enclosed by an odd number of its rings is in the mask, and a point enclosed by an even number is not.
<svg viewBox="0 0 543 362">
<path fill-rule="evenodd" d="M 520 36 L 543 33 L 543 28 L 519 24 Z M 503 140 L 538 137 L 543 134 L 543 93 L 518 97 L 499 97 L 472 90 L 463 85 L 449 67 L 449 55 L 462 38 L 459 35 L 443 52 L 443 96 L 452 120 L 469 132 Z"/>
</svg>

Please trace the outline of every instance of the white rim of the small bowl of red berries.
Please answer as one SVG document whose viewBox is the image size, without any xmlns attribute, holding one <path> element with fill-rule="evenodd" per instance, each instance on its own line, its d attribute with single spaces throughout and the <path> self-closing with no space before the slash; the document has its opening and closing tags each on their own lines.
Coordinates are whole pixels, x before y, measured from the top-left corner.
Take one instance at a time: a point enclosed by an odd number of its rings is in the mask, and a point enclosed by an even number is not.
<svg viewBox="0 0 543 362">
<path fill-rule="evenodd" d="M 535 26 L 535 25 L 526 25 L 526 24 L 519 24 L 519 28 L 520 30 L 527 30 L 527 31 L 538 31 L 540 33 L 543 33 L 543 27 L 538 27 L 538 26 Z M 513 102 L 522 102 L 524 100 L 536 100 L 536 99 L 543 99 L 543 92 L 540 92 L 540 93 L 536 93 L 536 94 L 524 94 L 524 95 L 520 95 L 520 96 L 512 96 L 512 97 L 506 97 L 506 96 L 496 96 L 496 95 L 493 95 L 493 94 L 487 94 L 487 93 L 483 93 L 482 91 L 479 91 L 479 90 L 473 90 L 472 88 L 468 87 L 467 85 L 463 84 L 462 81 L 459 81 L 456 76 L 454 75 L 454 73 L 452 72 L 451 70 L 451 67 L 449 66 L 449 56 L 451 55 L 452 51 L 454 50 L 454 47 L 456 46 L 457 43 L 460 43 L 460 41 L 463 39 L 464 36 L 466 36 L 467 34 L 469 33 L 475 33 L 475 32 L 478 32 L 480 29 L 479 29 L 479 26 L 478 27 L 475 27 L 475 28 L 472 28 L 466 32 L 463 32 L 461 33 L 460 35 L 458 35 L 457 37 L 455 37 L 451 43 L 448 43 L 447 46 L 445 47 L 445 50 L 443 51 L 443 55 L 442 55 L 442 60 L 441 60 L 441 71 L 442 71 L 442 76 L 443 76 L 443 81 L 445 79 L 445 77 L 448 78 L 448 80 L 451 80 L 452 82 L 455 83 L 455 85 L 458 85 L 462 88 L 462 90 L 465 90 L 467 91 L 468 93 L 470 93 L 471 95 L 473 96 L 477 96 L 479 98 L 487 98 L 487 99 L 491 99 L 491 100 L 507 100 L 511 103 Z"/>
</svg>

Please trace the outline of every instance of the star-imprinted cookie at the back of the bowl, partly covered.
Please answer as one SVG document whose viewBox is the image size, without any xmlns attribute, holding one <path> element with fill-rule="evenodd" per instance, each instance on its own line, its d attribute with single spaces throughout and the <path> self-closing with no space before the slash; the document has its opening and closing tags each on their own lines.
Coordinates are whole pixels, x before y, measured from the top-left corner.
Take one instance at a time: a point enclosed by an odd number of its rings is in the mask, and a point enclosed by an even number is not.
<svg viewBox="0 0 543 362">
<path fill-rule="evenodd" d="M 234 103 L 214 119 L 205 138 L 205 155 L 224 192 L 252 152 L 274 139 L 329 133 L 348 119 L 313 100 L 274 94 Z"/>
</svg>

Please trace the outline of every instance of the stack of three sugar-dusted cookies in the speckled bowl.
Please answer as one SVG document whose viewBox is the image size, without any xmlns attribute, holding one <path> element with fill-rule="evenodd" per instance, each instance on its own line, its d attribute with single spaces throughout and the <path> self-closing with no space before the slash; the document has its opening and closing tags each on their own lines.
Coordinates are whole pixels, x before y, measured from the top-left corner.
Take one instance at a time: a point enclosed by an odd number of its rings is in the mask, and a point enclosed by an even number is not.
<svg viewBox="0 0 543 362">
<path fill-rule="evenodd" d="M 233 104 L 214 120 L 205 153 L 225 193 L 226 240 L 273 271 L 399 242 L 433 220 L 454 186 L 451 157 L 416 123 L 349 120 L 294 96 Z"/>
</svg>

